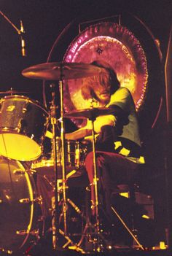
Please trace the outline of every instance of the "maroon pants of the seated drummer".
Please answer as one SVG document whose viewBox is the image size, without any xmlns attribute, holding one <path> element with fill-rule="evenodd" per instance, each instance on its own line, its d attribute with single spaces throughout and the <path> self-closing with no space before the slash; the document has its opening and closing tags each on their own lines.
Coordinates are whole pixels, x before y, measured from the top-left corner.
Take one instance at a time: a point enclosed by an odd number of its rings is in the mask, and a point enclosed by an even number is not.
<svg viewBox="0 0 172 256">
<path fill-rule="evenodd" d="M 133 182 L 133 177 L 138 166 L 120 154 L 112 152 L 96 151 L 96 172 L 98 177 L 98 202 L 101 201 L 107 214 L 110 214 L 110 195 L 112 190 L 119 184 Z M 93 186 L 94 165 L 93 152 L 90 152 L 85 159 L 85 168 L 88 174 L 91 187 L 91 199 L 95 203 L 95 188 Z M 94 207 L 92 214 L 95 214 Z"/>
</svg>

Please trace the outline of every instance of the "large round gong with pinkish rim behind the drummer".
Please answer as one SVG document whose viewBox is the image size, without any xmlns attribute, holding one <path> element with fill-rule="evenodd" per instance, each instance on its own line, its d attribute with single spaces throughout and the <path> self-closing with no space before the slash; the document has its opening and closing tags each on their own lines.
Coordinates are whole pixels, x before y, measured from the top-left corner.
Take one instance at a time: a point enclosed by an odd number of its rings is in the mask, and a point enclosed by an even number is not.
<svg viewBox="0 0 172 256">
<path fill-rule="evenodd" d="M 69 45 L 64 62 L 106 61 L 117 73 L 120 86 L 130 90 L 138 111 L 144 103 L 148 81 L 146 55 L 136 36 L 117 23 L 101 22 L 85 28 Z M 81 79 L 64 82 L 66 112 L 87 109 L 90 102 L 81 94 Z M 75 120 L 79 125 L 79 121 Z"/>
</svg>

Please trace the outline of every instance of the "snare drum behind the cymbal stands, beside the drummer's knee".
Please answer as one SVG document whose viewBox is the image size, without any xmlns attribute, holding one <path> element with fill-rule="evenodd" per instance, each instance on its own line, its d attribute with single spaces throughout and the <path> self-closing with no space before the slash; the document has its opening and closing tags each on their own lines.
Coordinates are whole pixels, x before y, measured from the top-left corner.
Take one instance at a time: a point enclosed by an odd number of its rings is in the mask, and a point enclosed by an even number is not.
<svg viewBox="0 0 172 256">
<path fill-rule="evenodd" d="M 80 141 L 65 141 L 65 156 L 66 156 L 66 175 L 68 177 L 78 177 L 85 170 L 85 157 L 87 155 L 87 144 Z M 61 139 L 57 139 L 57 166 L 58 178 L 62 178 L 62 148 Z M 53 153 L 45 154 L 41 159 L 32 163 L 31 168 L 36 169 L 40 175 L 53 175 L 54 160 Z M 71 176 L 70 176 L 71 174 Z"/>
</svg>

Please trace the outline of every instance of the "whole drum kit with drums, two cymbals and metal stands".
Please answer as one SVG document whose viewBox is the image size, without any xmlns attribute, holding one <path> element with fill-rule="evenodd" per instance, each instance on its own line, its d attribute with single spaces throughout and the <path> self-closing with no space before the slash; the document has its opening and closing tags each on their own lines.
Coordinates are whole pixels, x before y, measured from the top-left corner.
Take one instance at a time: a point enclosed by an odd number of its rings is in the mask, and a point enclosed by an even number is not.
<svg viewBox="0 0 172 256">
<path fill-rule="evenodd" d="M 58 80 L 60 89 L 60 119 L 57 119 L 55 109 L 55 93 L 52 88 L 52 106 L 50 111 L 38 101 L 26 96 L 26 92 L 7 90 L 1 94 L 8 94 L 0 102 L 0 251 L 11 254 L 23 252 L 29 247 L 33 236 L 39 240 L 36 209 L 40 208 L 42 198 L 38 196 L 34 181 L 34 174 L 47 174 L 53 170 L 55 185 L 54 206 L 52 207 L 52 248 L 57 249 L 58 236 L 63 234 L 69 244 L 67 204 L 79 212 L 79 208 L 66 197 L 66 180 L 68 177 L 82 175 L 85 166 L 87 146 L 80 141 L 66 141 L 65 118 L 85 118 L 92 121 L 92 141 L 94 152 L 94 187 L 95 187 L 95 239 L 98 249 L 101 244 L 98 217 L 98 186 L 95 160 L 94 120 L 99 115 L 107 115 L 109 109 L 90 108 L 73 112 L 63 112 L 63 80 L 89 77 L 105 71 L 85 63 L 42 63 L 31 66 L 22 71 L 23 76 L 31 79 Z M 60 122 L 60 137 L 57 136 L 57 123 Z M 52 133 L 47 131 L 52 125 Z M 52 152 L 47 159 L 42 158 L 42 145 L 45 137 L 52 140 Z M 31 164 L 30 164 L 31 163 Z M 59 226 L 60 193 L 58 180 L 61 180 L 63 194 L 63 231 Z M 60 191 L 60 192 L 59 192 Z M 82 214 L 82 213 L 81 213 Z M 83 214 L 82 214 L 83 215 Z M 90 223 L 90 222 L 89 222 Z M 93 225 L 90 223 L 90 226 Z M 88 226 L 89 226 L 88 225 Z M 96 242 L 95 242 L 96 241 Z M 33 242 L 33 241 L 32 241 Z M 76 246 L 77 248 L 77 246 Z M 100 249 L 100 248 L 99 248 Z"/>
</svg>

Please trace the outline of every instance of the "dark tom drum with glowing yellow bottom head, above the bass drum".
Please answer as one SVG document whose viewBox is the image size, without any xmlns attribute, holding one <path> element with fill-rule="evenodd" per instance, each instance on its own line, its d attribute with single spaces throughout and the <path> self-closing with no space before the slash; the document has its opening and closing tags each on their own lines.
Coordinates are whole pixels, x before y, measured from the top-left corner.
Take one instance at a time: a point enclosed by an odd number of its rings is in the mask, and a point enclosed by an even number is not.
<svg viewBox="0 0 172 256">
<path fill-rule="evenodd" d="M 28 161 L 42 154 L 49 113 L 25 96 L 6 96 L 0 101 L 0 155 Z"/>
</svg>

